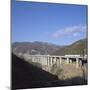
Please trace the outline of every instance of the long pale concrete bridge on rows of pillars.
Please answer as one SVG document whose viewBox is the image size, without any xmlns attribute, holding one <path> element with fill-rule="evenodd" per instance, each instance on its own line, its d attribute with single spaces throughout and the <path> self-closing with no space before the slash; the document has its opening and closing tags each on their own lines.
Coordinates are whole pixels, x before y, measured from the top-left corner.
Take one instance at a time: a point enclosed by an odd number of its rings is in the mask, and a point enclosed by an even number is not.
<svg viewBox="0 0 90 90">
<path fill-rule="evenodd" d="M 84 63 L 87 63 L 87 57 L 81 57 L 77 55 L 27 55 L 24 54 L 25 60 L 31 60 L 32 62 L 40 63 L 41 65 L 52 66 L 53 64 L 73 64 L 75 63 L 76 68 L 81 67 Z"/>
</svg>

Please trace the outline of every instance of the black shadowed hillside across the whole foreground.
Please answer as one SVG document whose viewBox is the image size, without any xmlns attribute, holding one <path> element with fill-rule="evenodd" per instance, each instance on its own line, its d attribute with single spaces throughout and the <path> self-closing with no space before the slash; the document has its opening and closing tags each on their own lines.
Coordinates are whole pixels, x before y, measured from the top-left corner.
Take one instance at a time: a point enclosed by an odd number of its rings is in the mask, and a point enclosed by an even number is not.
<svg viewBox="0 0 90 90">
<path fill-rule="evenodd" d="M 28 62 L 24 59 L 12 54 L 12 78 L 11 88 L 16 89 L 28 89 L 28 88 L 41 88 L 41 87 L 57 87 L 57 86 L 71 86 L 71 85 L 85 85 L 87 81 L 84 81 L 83 77 L 75 76 L 70 79 L 61 80 L 61 70 L 57 72 L 57 75 L 52 75 Z M 66 67 L 66 66 L 65 66 Z M 71 67 L 66 67 L 67 69 Z M 57 68 L 56 68 L 57 69 Z M 79 70 L 78 70 L 79 71 Z M 74 69 L 75 72 L 75 69 Z M 71 73 L 71 72 L 70 72 Z M 69 74 L 70 74 L 69 73 Z M 66 74 L 65 74 L 66 75 Z"/>
</svg>

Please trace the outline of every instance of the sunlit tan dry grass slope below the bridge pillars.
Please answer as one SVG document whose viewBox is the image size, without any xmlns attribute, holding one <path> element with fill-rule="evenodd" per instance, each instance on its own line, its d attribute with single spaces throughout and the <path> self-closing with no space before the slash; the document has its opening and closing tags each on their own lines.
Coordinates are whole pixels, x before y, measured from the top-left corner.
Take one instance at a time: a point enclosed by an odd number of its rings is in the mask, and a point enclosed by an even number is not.
<svg viewBox="0 0 90 90">
<path fill-rule="evenodd" d="M 87 68 L 76 68 L 75 64 L 62 64 L 60 66 L 57 66 L 54 74 L 56 74 L 61 80 L 71 79 L 74 77 L 83 77 L 84 75 L 85 77 L 87 77 Z"/>
</svg>

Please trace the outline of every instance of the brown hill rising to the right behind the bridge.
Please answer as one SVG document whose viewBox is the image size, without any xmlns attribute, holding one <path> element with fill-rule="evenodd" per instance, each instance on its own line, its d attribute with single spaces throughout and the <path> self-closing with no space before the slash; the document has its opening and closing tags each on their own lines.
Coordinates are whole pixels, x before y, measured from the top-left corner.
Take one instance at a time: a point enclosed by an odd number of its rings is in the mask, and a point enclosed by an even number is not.
<svg viewBox="0 0 90 90">
<path fill-rule="evenodd" d="M 78 40 L 71 45 L 65 46 L 56 50 L 52 55 L 65 55 L 65 54 L 87 54 L 87 39 Z"/>
</svg>

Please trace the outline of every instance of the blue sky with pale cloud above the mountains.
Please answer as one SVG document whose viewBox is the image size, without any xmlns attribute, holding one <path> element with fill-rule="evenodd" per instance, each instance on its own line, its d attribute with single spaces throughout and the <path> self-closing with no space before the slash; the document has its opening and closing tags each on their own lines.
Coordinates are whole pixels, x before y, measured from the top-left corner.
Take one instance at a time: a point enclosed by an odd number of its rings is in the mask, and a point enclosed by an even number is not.
<svg viewBox="0 0 90 90">
<path fill-rule="evenodd" d="M 87 37 L 87 6 L 12 2 L 12 42 L 69 45 Z"/>
</svg>

